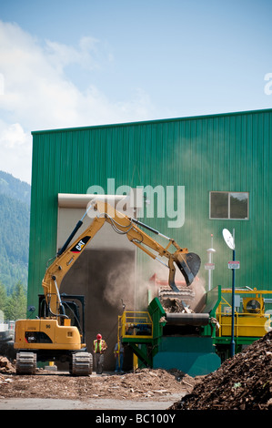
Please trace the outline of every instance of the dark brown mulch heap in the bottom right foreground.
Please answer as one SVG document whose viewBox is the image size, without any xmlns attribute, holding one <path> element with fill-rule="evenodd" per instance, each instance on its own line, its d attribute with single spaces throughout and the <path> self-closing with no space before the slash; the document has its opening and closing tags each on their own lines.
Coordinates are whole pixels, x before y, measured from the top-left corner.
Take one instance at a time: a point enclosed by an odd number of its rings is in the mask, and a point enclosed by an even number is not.
<svg viewBox="0 0 272 428">
<path fill-rule="evenodd" d="M 196 382 L 171 410 L 272 410 L 272 331 Z"/>
</svg>

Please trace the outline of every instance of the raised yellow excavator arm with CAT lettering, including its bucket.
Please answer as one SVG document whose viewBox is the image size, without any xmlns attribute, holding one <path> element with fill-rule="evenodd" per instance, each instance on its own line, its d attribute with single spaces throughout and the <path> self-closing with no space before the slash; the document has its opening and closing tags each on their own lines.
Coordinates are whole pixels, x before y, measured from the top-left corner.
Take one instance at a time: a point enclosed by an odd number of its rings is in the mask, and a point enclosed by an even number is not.
<svg viewBox="0 0 272 428">
<path fill-rule="evenodd" d="M 75 237 L 77 230 L 82 226 L 83 219 L 86 217 L 89 209 L 96 210 L 96 217 L 86 230 L 69 246 L 72 239 Z M 69 238 L 66 240 L 63 248 L 58 251 L 55 260 L 47 268 L 45 277 L 42 282 L 45 293 L 45 301 L 49 310 L 56 317 L 64 316 L 62 311 L 62 304 L 59 295 L 60 285 L 68 270 L 72 268 L 76 260 L 80 257 L 81 253 L 86 249 L 86 245 L 94 238 L 96 233 L 103 227 L 105 222 L 111 224 L 113 229 L 120 234 L 126 235 L 137 248 L 146 252 L 154 260 L 164 263 L 159 257 L 165 257 L 168 260 L 166 266 L 169 268 L 169 286 L 172 290 L 179 291 L 175 284 L 176 266 L 181 270 L 186 280 L 186 285 L 190 285 L 196 277 L 200 268 L 200 258 L 195 253 L 189 253 L 186 248 L 180 248 L 174 239 L 170 239 L 161 234 L 155 229 L 146 226 L 137 219 L 128 218 L 126 215 L 117 211 L 111 205 L 96 201 L 86 210 L 85 215 L 76 224 Z M 144 227 L 159 236 L 168 240 L 166 247 L 156 242 L 149 235 L 146 234 L 138 226 Z M 173 245 L 175 251 L 171 252 L 170 247 Z M 176 265 L 176 266 L 175 266 Z"/>
</svg>

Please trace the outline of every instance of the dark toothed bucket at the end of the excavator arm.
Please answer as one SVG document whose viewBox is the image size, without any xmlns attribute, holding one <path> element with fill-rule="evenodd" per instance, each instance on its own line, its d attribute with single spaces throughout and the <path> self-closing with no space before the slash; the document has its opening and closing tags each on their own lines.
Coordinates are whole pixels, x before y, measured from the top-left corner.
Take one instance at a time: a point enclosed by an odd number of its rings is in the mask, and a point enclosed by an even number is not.
<svg viewBox="0 0 272 428">
<path fill-rule="evenodd" d="M 177 251 L 174 260 L 169 260 L 169 286 L 173 291 L 179 292 L 175 283 L 176 268 L 174 267 L 174 262 L 176 263 L 176 267 L 183 274 L 186 280 L 186 286 L 189 286 L 197 275 L 201 260 L 194 252 L 181 253 Z"/>
</svg>

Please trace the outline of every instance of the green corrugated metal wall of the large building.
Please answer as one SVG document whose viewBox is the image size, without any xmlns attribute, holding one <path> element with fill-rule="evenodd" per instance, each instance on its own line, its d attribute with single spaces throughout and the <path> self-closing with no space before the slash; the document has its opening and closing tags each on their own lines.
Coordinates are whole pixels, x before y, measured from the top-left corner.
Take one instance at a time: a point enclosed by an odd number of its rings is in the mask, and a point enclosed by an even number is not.
<svg viewBox="0 0 272 428">
<path fill-rule="evenodd" d="M 167 219 L 148 224 L 200 255 L 200 275 L 214 234 L 214 285 L 231 285 L 222 229 L 236 230 L 237 286 L 271 290 L 272 110 L 186 117 L 103 127 L 33 133 L 33 177 L 28 301 L 41 289 L 46 260 L 55 254 L 57 194 L 157 185 L 185 186 L 185 224 Z M 209 192 L 249 192 L 248 220 L 209 219 Z M 146 256 L 139 255 L 140 263 Z"/>
</svg>

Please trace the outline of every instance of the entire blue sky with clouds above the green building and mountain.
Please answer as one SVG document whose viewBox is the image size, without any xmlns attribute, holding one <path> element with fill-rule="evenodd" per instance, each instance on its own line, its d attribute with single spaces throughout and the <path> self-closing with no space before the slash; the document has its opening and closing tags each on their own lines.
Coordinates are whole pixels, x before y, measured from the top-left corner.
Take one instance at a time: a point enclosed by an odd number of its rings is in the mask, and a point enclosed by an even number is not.
<svg viewBox="0 0 272 428">
<path fill-rule="evenodd" d="M 1 0 L 0 169 L 30 182 L 32 130 L 272 107 L 271 16 L 267 0 Z"/>
</svg>

